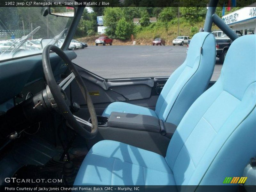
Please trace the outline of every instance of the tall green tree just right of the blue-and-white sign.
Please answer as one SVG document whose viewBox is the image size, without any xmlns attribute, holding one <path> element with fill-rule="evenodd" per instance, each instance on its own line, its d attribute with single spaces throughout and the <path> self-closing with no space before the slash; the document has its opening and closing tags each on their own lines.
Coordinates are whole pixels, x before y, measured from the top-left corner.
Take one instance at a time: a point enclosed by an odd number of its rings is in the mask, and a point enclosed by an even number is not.
<svg viewBox="0 0 256 192">
<path fill-rule="evenodd" d="M 116 25 L 122 18 L 122 9 L 120 7 L 107 7 L 104 10 L 104 26 L 106 26 L 105 33 L 111 38 L 116 37 Z"/>
</svg>

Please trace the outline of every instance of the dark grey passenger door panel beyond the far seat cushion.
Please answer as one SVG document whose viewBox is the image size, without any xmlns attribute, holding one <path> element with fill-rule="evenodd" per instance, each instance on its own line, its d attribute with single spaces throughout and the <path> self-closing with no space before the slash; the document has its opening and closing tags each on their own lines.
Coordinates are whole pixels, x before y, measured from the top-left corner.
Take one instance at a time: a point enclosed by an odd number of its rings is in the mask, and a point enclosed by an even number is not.
<svg viewBox="0 0 256 192">
<path fill-rule="evenodd" d="M 154 110 L 158 95 L 168 79 L 168 77 L 104 79 L 79 66 L 76 67 L 91 93 L 97 115 L 101 115 L 104 109 L 115 101 L 127 102 Z M 71 102 L 80 104 L 81 109 L 77 112 L 78 116 L 84 119 L 89 118 L 87 105 L 75 81 L 71 83 Z"/>
</svg>

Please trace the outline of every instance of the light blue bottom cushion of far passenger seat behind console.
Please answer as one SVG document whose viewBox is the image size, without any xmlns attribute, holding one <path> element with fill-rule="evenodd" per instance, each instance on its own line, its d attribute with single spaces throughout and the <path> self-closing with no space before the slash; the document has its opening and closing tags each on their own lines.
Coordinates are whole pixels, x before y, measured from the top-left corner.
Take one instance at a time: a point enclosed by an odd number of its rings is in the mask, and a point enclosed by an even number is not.
<svg viewBox="0 0 256 192">
<path fill-rule="evenodd" d="M 104 110 L 102 116 L 109 117 L 110 114 L 115 112 L 121 112 L 121 113 L 132 113 L 132 114 L 140 114 L 140 115 L 149 115 L 154 116 L 156 118 L 156 112 L 152 109 L 141 107 L 138 105 L 133 105 L 130 103 L 124 103 L 124 102 L 114 102 L 108 105 L 108 107 Z"/>
</svg>

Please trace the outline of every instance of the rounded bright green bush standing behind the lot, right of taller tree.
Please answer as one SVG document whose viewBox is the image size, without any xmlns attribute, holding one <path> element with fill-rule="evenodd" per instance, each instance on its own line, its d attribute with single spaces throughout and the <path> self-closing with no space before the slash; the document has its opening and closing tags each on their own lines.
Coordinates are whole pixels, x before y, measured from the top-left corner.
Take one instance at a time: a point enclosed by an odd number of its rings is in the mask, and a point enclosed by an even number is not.
<svg viewBox="0 0 256 192">
<path fill-rule="evenodd" d="M 120 40 L 129 39 L 133 31 L 133 23 L 128 22 L 123 17 L 117 22 L 116 25 L 116 38 Z"/>
</svg>

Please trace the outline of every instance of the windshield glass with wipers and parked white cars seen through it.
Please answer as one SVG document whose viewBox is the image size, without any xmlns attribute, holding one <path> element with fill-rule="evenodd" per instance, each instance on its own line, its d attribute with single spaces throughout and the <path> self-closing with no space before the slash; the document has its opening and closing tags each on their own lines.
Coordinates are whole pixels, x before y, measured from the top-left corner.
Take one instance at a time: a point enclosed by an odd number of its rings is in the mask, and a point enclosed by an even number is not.
<svg viewBox="0 0 256 192">
<path fill-rule="evenodd" d="M 65 39 L 73 18 L 43 16 L 42 7 L 0 7 L 0 60 L 42 53 L 48 44 L 61 46 L 56 37 Z M 56 9 L 56 10 L 54 10 Z M 68 12 L 65 7 L 51 11 Z M 64 31 L 64 32 L 63 32 Z M 52 40 L 55 38 L 54 40 Z M 47 41 L 48 39 L 48 41 Z M 43 42 L 47 42 L 44 43 Z M 64 40 L 63 40 L 64 41 Z M 6 43 L 7 42 L 7 43 Z"/>
</svg>

